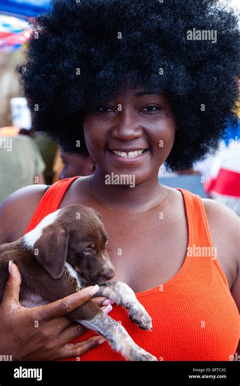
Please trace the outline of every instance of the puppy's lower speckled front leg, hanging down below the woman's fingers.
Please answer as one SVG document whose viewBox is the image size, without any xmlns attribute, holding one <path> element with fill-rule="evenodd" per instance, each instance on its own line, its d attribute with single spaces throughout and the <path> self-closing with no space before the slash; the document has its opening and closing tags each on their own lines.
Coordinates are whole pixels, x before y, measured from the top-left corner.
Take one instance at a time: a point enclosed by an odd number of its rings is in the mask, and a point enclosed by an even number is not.
<svg viewBox="0 0 240 386">
<path fill-rule="evenodd" d="M 92 317 L 90 318 L 90 314 Z M 94 315 L 94 316 L 93 316 Z M 125 328 L 105 314 L 92 300 L 72 311 L 68 316 L 107 339 L 113 350 L 129 361 L 157 361 L 156 357 L 139 347 Z"/>
</svg>

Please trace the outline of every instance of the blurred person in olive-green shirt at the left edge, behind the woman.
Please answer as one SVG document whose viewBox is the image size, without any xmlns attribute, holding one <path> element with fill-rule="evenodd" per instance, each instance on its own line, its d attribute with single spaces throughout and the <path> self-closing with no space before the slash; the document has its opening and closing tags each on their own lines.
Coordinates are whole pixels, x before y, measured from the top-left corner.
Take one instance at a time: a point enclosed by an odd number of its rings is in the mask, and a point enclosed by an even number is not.
<svg viewBox="0 0 240 386">
<path fill-rule="evenodd" d="M 30 131 L 16 126 L 0 128 L 0 204 L 21 187 L 44 184 L 44 170 Z"/>
</svg>

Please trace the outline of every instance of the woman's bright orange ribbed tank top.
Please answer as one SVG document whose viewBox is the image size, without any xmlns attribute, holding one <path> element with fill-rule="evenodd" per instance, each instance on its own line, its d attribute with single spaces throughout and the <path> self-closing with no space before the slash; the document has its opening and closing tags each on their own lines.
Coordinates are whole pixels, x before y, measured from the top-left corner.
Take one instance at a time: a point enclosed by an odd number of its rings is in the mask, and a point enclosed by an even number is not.
<svg viewBox="0 0 240 386">
<path fill-rule="evenodd" d="M 58 208 L 65 191 L 76 178 L 58 181 L 47 190 L 26 232 Z M 178 190 L 184 199 L 188 247 L 213 247 L 201 198 L 188 190 Z M 153 332 L 140 330 L 130 321 L 125 308 L 115 304 L 109 316 L 120 321 L 134 341 L 159 361 L 229 361 L 229 356 L 235 353 L 240 330 L 238 310 L 226 276 L 216 256 L 197 257 L 196 253 L 191 257 L 188 254 L 179 272 L 169 281 L 136 293 L 152 317 Z M 96 333 L 88 330 L 73 342 L 93 335 Z M 107 342 L 81 356 L 81 361 L 124 360 Z"/>
</svg>

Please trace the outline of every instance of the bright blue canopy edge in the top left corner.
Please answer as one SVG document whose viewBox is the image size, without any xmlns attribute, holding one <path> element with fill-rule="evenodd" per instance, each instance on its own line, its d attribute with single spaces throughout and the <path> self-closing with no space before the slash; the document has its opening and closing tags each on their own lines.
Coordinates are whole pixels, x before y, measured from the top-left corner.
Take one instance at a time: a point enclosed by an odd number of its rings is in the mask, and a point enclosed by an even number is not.
<svg viewBox="0 0 240 386">
<path fill-rule="evenodd" d="M 51 8 L 50 0 L 0 0 L 0 14 L 25 19 L 37 16 Z"/>
</svg>

